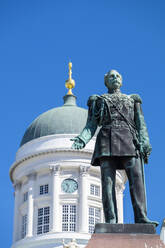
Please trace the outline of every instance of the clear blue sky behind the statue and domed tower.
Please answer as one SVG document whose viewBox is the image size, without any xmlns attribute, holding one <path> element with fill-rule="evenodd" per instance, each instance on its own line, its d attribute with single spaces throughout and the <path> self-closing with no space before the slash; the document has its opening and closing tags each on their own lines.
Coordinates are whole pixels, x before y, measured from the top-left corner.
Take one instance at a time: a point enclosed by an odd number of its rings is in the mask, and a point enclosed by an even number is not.
<svg viewBox="0 0 165 248">
<path fill-rule="evenodd" d="M 12 243 L 14 199 L 8 171 L 27 126 L 63 104 L 68 62 L 78 105 L 106 92 L 109 69 L 123 76 L 124 93 L 139 93 L 153 147 L 146 165 L 148 216 L 165 217 L 163 0 L 1 0 L 1 246 Z M 133 221 L 128 187 L 125 222 Z M 161 224 L 160 224 L 161 226 Z M 158 227 L 158 233 L 160 231 Z"/>
</svg>

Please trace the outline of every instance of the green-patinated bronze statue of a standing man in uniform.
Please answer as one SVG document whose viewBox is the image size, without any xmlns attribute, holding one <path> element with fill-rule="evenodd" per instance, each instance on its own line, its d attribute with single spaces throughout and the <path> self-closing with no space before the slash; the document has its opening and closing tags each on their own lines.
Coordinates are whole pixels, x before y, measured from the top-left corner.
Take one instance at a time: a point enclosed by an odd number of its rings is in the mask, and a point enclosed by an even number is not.
<svg viewBox="0 0 165 248">
<path fill-rule="evenodd" d="M 117 169 L 126 171 L 135 223 L 157 222 L 147 218 L 143 162 L 151 152 L 147 127 L 139 95 L 120 91 L 122 77 L 110 70 L 104 77 L 108 93 L 93 95 L 88 100 L 88 119 L 72 148 L 82 149 L 101 127 L 97 135 L 91 164 L 101 167 L 102 201 L 106 223 L 118 223 L 115 195 Z"/>
</svg>

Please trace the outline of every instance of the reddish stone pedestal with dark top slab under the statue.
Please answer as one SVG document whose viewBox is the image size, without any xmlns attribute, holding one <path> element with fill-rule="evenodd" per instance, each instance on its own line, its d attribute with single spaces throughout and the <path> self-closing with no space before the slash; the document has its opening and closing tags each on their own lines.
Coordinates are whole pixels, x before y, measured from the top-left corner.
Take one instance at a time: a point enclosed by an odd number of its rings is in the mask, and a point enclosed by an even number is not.
<svg viewBox="0 0 165 248">
<path fill-rule="evenodd" d="M 86 248 L 165 248 L 151 224 L 105 224 L 95 226 Z"/>
</svg>

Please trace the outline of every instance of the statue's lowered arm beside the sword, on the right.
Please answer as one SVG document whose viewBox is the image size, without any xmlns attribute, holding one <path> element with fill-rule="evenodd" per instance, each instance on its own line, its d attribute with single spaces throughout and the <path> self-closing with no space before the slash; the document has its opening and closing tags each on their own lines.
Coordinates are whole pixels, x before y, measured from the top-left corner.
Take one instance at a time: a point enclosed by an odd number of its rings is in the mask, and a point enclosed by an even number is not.
<svg viewBox="0 0 165 248">
<path fill-rule="evenodd" d="M 144 120 L 144 115 L 141 108 L 141 99 L 138 95 L 134 98 L 135 100 L 135 124 L 138 131 L 140 152 L 143 155 L 144 162 L 148 163 L 148 157 L 151 153 L 152 147 L 149 141 L 149 135 L 147 131 L 147 126 Z"/>
</svg>

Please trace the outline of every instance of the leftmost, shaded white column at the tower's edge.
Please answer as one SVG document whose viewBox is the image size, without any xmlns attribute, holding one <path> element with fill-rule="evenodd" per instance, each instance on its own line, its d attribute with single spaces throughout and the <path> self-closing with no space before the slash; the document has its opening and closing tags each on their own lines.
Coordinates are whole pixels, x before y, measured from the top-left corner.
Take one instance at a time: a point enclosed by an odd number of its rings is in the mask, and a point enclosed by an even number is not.
<svg viewBox="0 0 165 248">
<path fill-rule="evenodd" d="M 19 239 L 19 198 L 20 198 L 20 189 L 21 183 L 16 183 L 14 185 L 15 192 L 14 192 L 14 231 L 13 231 L 13 243 Z"/>
</svg>

